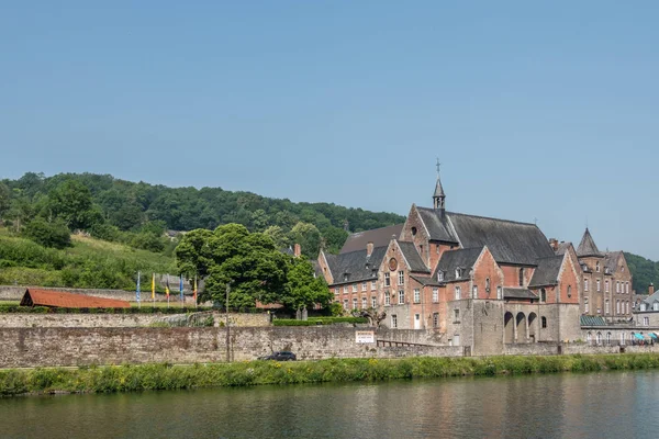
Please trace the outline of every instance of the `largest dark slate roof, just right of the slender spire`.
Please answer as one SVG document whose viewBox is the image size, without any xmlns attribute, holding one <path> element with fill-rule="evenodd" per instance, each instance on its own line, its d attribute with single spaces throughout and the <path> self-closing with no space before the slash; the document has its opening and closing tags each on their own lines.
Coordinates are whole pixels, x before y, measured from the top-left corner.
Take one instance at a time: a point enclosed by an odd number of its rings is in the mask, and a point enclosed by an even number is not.
<svg viewBox="0 0 659 439">
<path fill-rule="evenodd" d="M 499 263 L 535 266 L 554 256 L 547 237 L 535 224 L 446 213 L 463 248 L 488 246 Z"/>
</svg>

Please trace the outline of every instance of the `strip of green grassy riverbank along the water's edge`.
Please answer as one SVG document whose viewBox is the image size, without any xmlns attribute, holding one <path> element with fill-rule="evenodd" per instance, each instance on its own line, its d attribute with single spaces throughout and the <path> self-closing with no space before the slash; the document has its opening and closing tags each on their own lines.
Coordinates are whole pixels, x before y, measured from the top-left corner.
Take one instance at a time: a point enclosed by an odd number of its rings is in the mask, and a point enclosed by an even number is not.
<svg viewBox="0 0 659 439">
<path fill-rule="evenodd" d="M 194 365 L 144 364 L 0 370 L 0 395 L 134 392 L 263 384 L 389 381 L 659 368 L 659 354 L 332 359 Z"/>
</svg>

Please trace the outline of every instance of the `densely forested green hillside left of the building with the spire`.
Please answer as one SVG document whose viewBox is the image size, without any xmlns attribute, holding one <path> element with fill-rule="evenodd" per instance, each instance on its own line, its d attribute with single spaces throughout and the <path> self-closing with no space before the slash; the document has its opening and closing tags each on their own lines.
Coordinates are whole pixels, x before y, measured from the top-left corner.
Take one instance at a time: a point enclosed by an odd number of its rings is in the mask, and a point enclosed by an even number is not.
<svg viewBox="0 0 659 439">
<path fill-rule="evenodd" d="M 392 213 L 373 213 L 331 203 L 293 203 L 221 188 L 167 188 L 134 183 L 112 176 L 29 172 L 0 182 L 0 219 L 48 247 L 63 247 L 64 230 L 135 248 L 170 252 L 166 229 L 214 229 L 237 223 L 265 232 L 278 246 L 300 243 L 309 256 L 321 246 L 338 251 L 346 229 L 359 232 L 404 221 Z M 55 237 L 55 239 L 53 238 Z"/>
</svg>

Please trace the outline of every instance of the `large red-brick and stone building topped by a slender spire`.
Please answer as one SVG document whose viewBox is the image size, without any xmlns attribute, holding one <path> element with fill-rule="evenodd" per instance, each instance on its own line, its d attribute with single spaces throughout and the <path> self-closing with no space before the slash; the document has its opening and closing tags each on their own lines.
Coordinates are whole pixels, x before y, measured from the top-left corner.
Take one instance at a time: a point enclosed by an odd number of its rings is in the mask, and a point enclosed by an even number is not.
<svg viewBox="0 0 659 439">
<path fill-rule="evenodd" d="M 319 266 L 346 309 L 386 311 L 384 326 L 434 330 L 473 353 L 580 338 L 576 252 L 555 251 L 535 224 L 448 212 L 439 175 L 432 207 L 351 235 Z"/>
</svg>

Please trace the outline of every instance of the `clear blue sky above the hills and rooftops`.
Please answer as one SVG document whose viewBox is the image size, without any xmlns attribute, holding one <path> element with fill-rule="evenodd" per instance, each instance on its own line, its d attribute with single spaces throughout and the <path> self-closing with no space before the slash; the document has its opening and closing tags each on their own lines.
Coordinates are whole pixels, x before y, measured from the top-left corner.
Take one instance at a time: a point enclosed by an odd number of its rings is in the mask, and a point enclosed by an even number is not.
<svg viewBox="0 0 659 439">
<path fill-rule="evenodd" d="M 659 259 L 656 1 L 4 1 L 0 178 L 100 172 Z"/>
</svg>

